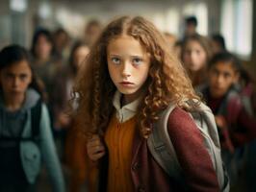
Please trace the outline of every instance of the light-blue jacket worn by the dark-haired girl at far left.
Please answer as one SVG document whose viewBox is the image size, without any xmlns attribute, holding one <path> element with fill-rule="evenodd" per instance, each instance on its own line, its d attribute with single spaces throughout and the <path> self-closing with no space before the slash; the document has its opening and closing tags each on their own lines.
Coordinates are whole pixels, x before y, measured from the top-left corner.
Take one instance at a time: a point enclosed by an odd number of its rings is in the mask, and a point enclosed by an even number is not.
<svg viewBox="0 0 256 192">
<path fill-rule="evenodd" d="M 31 109 L 39 99 L 38 93 L 33 89 L 28 89 L 26 103 L 27 108 L 23 108 L 26 114 L 24 128 L 21 133 L 22 137 L 30 137 L 31 131 Z M 50 118 L 45 104 L 41 107 L 41 118 L 39 122 L 39 134 L 36 143 L 34 141 L 21 141 L 20 142 L 20 156 L 21 163 L 25 172 L 25 176 L 29 183 L 35 183 L 39 174 L 41 163 L 44 162 L 46 169 L 49 173 L 53 191 L 64 191 L 64 176 L 60 161 L 57 156 L 54 139 L 50 129 Z"/>
</svg>

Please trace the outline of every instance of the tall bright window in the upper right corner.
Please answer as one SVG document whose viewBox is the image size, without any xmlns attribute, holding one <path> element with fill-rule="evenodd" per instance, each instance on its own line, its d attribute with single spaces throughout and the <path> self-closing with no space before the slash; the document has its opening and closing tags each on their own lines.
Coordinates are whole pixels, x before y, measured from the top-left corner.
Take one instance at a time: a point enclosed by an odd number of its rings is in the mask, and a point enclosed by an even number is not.
<svg viewBox="0 0 256 192">
<path fill-rule="evenodd" d="M 221 34 L 227 49 L 244 59 L 252 48 L 252 0 L 223 0 L 221 7 Z"/>
</svg>

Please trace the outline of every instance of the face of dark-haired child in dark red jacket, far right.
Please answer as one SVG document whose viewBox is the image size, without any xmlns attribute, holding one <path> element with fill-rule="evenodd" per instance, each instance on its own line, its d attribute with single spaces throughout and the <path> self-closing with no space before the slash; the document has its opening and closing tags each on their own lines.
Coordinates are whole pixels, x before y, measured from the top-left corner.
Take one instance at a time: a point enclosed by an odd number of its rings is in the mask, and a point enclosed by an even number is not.
<svg viewBox="0 0 256 192">
<path fill-rule="evenodd" d="M 238 72 L 231 63 L 222 61 L 214 64 L 209 71 L 210 93 L 214 98 L 220 98 L 226 94 L 232 84 L 237 83 Z"/>
</svg>

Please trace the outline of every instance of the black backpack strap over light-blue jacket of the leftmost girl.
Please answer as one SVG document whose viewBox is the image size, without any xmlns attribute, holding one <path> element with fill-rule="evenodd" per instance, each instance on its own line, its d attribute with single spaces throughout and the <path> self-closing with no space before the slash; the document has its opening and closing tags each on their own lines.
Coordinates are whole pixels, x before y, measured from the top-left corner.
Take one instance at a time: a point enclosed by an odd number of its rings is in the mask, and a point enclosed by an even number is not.
<svg viewBox="0 0 256 192">
<path fill-rule="evenodd" d="M 38 103 L 35 107 L 31 108 L 31 132 L 32 138 L 38 138 L 39 134 L 39 124 L 41 116 L 41 100 L 38 100 Z"/>
</svg>

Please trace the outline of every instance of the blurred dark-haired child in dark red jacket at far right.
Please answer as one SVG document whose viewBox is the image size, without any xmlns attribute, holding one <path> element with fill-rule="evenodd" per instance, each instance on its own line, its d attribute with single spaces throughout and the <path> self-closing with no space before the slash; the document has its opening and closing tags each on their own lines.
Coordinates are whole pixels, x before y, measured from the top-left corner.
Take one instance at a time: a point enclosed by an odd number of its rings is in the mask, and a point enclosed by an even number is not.
<svg viewBox="0 0 256 192">
<path fill-rule="evenodd" d="M 246 164 L 245 145 L 256 138 L 256 120 L 236 88 L 241 71 L 241 63 L 234 55 L 218 53 L 209 62 L 209 84 L 201 87 L 207 105 L 215 114 L 222 158 L 234 188 L 241 187 L 238 183 Z M 245 188 L 240 190 L 245 191 Z"/>
</svg>

